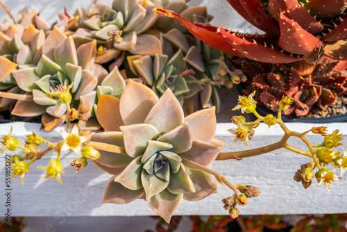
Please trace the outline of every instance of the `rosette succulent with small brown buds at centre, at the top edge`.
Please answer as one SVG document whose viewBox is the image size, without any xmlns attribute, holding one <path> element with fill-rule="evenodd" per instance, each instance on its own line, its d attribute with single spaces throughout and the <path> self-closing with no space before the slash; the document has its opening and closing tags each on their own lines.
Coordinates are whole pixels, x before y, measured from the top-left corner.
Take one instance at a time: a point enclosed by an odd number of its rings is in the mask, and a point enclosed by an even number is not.
<svg viewBox="0 0 347 232">
<path fill-rule="evenodd" d="M 83 27 L 74 33 L 74 39 L 83 43 L 97 40 L 96 63 L 116 58 L 115 62 L 121 64 L 122 51 L 150 56 L 162 53 L 158 38 L 144 34 L 159 16 L 153 13 L 151 1 L 143 5 L 137 0 L 114 0 L 112 8 L 104 3 L 93 4 L 87 19 L 81 20 Z"/>
</svg>

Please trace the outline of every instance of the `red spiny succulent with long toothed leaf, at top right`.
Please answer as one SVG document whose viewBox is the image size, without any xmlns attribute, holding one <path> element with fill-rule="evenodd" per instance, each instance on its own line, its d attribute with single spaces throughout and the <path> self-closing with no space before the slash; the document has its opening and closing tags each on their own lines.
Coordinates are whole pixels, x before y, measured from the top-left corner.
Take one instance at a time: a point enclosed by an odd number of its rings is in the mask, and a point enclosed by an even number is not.
<svg viewBox="0 0 347 232">
<path fill-rule="evenodd" d="M 314 63 L 322 53 L 346 59 L 347 28 L 344 0 L 228 0 L 248 22 L 264 31 L 249 35 L 221 26 L 197 24 L 160 8 L 156 13 L 173 17 L 196 38 L 234 56 L 264 63 L 292 63 L 306 58 Z M 218 33 L 216 33 L 218 32 Z"/>
</svg>

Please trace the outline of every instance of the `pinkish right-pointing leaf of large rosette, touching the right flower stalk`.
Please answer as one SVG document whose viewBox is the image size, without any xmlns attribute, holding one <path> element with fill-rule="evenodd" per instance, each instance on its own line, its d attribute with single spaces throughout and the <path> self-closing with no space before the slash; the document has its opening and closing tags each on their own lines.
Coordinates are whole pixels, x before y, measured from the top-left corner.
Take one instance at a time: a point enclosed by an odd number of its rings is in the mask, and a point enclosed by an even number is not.
<svg viewBox="0 0 347 232">
<path fill-rule="evenodd" d="M 208 166 L 218 156 L 223 146 L 202 140 L 193 140 L 192 148 L 180 154 L 183 158 Z"/>
</svg>

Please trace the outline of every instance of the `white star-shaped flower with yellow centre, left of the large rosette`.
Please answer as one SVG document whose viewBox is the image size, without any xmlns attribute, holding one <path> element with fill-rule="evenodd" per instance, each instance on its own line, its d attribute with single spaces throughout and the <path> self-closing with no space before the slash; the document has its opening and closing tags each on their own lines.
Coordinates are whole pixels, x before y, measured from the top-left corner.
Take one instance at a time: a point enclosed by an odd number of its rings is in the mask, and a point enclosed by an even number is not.
<svg viewBox="0 0 347 232">
<path fill-rule="evenodd" d="M 83 142 L 87 142 L 89 138 L 78 134 L 78 127 L 76 124 L 74 125 L 70 133 L 67 133 L 66 131 L 60 131 L 60 133 L 62 134 L 62 138 L 64 139 L 64 144 L 62 144 L 60 151 L 75 151 L 76 154 L 81 156 L 81 145 L 83 144 Z"/>
</svg>

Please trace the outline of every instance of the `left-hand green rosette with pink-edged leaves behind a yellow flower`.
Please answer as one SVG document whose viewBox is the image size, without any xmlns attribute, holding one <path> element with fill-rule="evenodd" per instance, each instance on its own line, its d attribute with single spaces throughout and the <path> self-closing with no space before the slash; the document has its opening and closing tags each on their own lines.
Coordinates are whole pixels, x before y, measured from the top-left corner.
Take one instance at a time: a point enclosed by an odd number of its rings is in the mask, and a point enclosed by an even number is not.
<svg viewBox="0 0 347 232">
<path fill-rule="evenodd" d="M 57 27 L 42 45 L 42 56 L 35 67 L 12 71 L 19 88 L 33 101 L 18 101 L 13 115 L 30 117 L 47 113 L 53 117 L 65 115 L 67 106 L 53 94 L 59 86 L 71 85 L 71 105 L 96 88 L 98 78 L 93 74 L 96 41 L 83 44 L 76 49 L 71 36 L 67 37 Z"/>
</svg>

